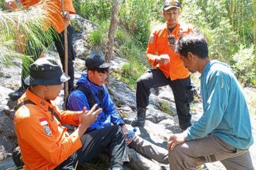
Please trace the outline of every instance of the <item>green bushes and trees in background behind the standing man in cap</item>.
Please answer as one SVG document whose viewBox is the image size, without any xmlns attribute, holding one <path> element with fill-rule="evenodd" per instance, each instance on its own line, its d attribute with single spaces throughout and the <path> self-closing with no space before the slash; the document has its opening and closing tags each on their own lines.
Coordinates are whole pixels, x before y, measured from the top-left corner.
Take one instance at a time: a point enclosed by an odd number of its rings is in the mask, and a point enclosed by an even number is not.
<svg viewBox="0 0 256 170">
<path fill-rule="evenodd" d="M 111 17 L 111 0 L 75 1 L 77 11 L 83 17 L 101 25 Z M 153 25 L 162 22 L 161 0 L 126 0 L 119 10 L 119 29 L 116 39 L 121 45 L 118 55 L 131 61 L 123 68 L 123 75 L 134 76 L 134 66 L 145 66 L 145 51 L 149 32 Z M 181 20 L 193 25 L 196 32 L 208 38 L 211 59 L 227 62 L 235 70 L 243 85 L 256 85 L 254 47 L 254 0 L 188 0 L 183 4 Z M 122 29 L 121 29 L 122 28 Z M 256 28 L 256 27 L 255 27 Z M 124 33 L 126 32 L 126 33 Z M 107 32 L 106 32 L 107 33 Z M 103 33 L 105 34 L 105 33 Z M 125 35 L 129 35 L 127 39 Z M 92 34 L 92 44 L 104 44 L 101 32 Z M 130 41 L 132 40 L 132 41 Z M 120 41 L 120 42 L 119 42 Z M 138 52 L 140 51 L 140 52 Z M 134 53 L 140 55 L 134 55 Z M 242 55 L 242 57 L 238 57 Z M 245 56 L 247 55 L 247 56 Z M 249 59 L 246 65 L 244 59 Z M 141 62 L 141 64 L 134 64 Z M 246 71 L 240 70 L 246 65 Z M 146 70 L 146 69 L 145 69 Z M 129 71 L 129 74 L 126 72 Z M 141 72 L 143 73 L 143 72 Z M 131 84 L 134 84 L 131 81 Z"/>
</svg>

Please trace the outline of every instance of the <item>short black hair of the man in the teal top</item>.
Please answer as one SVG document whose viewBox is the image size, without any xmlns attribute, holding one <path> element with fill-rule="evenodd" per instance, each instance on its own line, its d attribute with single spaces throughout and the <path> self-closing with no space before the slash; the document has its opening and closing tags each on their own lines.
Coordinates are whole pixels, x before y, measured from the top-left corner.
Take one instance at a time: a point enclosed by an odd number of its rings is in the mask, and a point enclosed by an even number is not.
<svg viewBox="0 0 256 170">
<path fill-rule="evenodd" d="M 176 44 L 176 53 L 187 58 L 188 52 L 197 55 L 200 59 L 208 58 L 208 42 L 206 38 L 198 33 L 180 36 Z"/>
</svg>

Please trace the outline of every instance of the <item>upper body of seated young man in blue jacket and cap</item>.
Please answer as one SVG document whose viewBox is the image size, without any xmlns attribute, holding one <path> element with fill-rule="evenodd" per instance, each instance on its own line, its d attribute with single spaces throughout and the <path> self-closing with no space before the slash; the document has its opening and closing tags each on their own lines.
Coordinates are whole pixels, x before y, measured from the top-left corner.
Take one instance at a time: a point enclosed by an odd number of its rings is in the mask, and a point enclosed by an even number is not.
<svg viewBox="0 0 256 170">
<path fill-rule="evenodd" d="M 111 96 L 104 85 L 111 63 L 104 62 L 99 55 L 93 55 L 87 57 L 86 66 L 87 74 L 81 75 L 76 83 L 76 90 L 68 96 L 68 109 L 82 111 L 83 107 L 91 108 L 90 97 L 83 93 L 83 89 L 88 90 L 89 95 L 93 97 L 95 103 L 99 104 L 99 108 L 103 108 L 103 111 L 98 115 L 98 119 L 87 128 L 87 132 L 109 127 L 113 123 L 120 125 L 122 131 L 126 133 L 125 123 L 115 110 Z M 84 88 L 80 89 L 81 87 Z"/>
</svg>

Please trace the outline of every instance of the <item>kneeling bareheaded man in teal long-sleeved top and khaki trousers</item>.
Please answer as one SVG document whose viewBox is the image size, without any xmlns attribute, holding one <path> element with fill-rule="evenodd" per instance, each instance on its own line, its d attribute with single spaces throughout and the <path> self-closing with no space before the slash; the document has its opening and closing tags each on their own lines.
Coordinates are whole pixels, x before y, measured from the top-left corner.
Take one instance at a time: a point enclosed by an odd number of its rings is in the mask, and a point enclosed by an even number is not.
<svg viewBox="0 0 256 170">
<path fill-rule="evenodd" d="M 231 67 L 208 58 L 204 36 L 181 36 L 176 46 L 184 66 L 201 73 L 203 115 L 192 127 L 169 138 L 172 169 L 193 169 L 221 161 L 227 169 L 254 169 L 250 115 L 242 88 Z"/>
</svg>

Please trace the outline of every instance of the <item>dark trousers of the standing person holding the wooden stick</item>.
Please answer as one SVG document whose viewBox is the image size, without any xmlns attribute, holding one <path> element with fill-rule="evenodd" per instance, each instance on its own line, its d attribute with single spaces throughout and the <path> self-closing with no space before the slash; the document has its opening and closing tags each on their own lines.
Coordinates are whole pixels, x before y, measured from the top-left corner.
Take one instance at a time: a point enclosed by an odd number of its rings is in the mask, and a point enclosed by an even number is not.
<svg viewBox="0 0 256 170">
<path fill-rule="evenodd" d="M 76 51 L 74 51 L 73 48 L 73 28 L 71 25 L 68 25 L 67 27 L 67 32 L 68 32 L 68 76 L 70 77 L 68 81 L 68 89 L 72 89 L 74 87 L 74 63 L 73 60 L 76 57 Z M 52 35 L 53 40 L 56 46 L 56 49 L 59 53 L 60 56 L 60 61 L 63 66 L 64 70 L 64 62 L 65 62 L 65 51 L 64 51 L 64 31 L 58 34 L 56 32 L 56 35 Z M 29 59 L 25 59 L 26 61 L 22 62 L 22 70 L 21 70 L 21 85 L 26 88 L 27 86 L 25 85 L 24 79 L 25 77 L 29 76 L 29 66 L 32 64 L 34 61 L 36 61 L 41 54 L 42 49 L 38 47 L 33 47 L 31 42 L 27 45 L 27 50 L 25 51 L 25 55 L 30 55 Z"/>
</svg>

